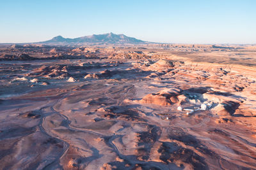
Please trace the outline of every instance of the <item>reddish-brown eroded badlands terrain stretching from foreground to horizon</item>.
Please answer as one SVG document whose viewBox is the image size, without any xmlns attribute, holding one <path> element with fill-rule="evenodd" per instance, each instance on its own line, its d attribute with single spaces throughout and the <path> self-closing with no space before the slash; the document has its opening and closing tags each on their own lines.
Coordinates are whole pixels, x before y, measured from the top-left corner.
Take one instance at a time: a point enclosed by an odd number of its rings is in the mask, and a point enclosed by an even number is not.
<svg viewBox="0 0 256 170">
<path fill-rule="evenodd" d="M 256 169 L 255 45 L 1 45 L 0 87 L 0 169 Z"/>
</svg>

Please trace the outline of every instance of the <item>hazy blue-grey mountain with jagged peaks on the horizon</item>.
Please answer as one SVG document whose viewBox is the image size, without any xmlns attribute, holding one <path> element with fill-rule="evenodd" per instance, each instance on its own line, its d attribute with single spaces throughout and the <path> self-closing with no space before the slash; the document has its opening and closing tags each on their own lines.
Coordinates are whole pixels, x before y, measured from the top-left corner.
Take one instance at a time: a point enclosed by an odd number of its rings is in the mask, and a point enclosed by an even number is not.
<svg viewBox="0 0 256 170">
<path fill-rule="evenodd" d="M 92 36 L 83 36 L 79 38 L 63 38 L 62 36 L 56 36 L 48 41 L 40 43 L 97 43 L 97 44 L 141 44 L 147 43 L 140 39 L 125 36 L 124 34 L 99 34 Z"/>
</svg>

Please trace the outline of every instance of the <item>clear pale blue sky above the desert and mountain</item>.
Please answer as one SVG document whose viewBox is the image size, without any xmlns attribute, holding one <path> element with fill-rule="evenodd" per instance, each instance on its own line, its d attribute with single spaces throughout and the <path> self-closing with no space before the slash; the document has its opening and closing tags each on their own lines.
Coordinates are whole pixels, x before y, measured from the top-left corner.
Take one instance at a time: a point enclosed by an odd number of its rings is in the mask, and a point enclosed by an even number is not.
<svg viewBox="0 0 256 170">
<path fill-rule="evenodd" d="M 107 32 L 163 43 L 256 43 L 256 0 L 0 0 L 0 43 Z"/>
</svg>

